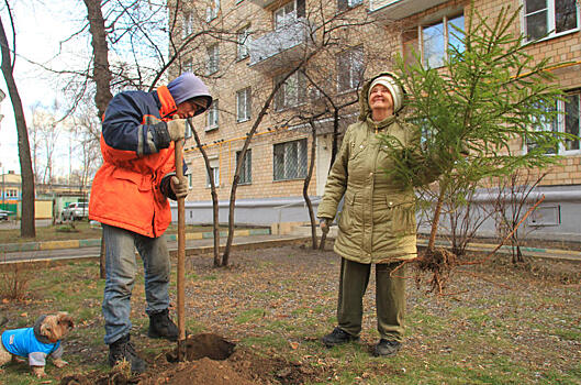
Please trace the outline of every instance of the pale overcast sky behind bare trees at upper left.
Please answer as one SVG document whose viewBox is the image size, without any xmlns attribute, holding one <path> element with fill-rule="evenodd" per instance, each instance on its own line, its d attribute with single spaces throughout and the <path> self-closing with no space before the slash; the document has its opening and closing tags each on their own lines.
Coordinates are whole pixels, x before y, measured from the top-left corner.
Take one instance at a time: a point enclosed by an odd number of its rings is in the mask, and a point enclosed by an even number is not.
<svg viewBox="0 0 581 385">
<path fill-rule="evenodd" d="M 14 78 L 19 88 L 20 98 L 24 107 L 26 123 L 32 122 L 31 107 L 35 103 L 45 106 L 53 105 L 55 98 L 62 96 L 56 90 L 54 76 L 42 70 L 38 66 L 32 65 L 29 61 L 45 63 L 53 66 L 63 66 L 67 61 L 75 61 L 75 53 L 66 53 L 66 57 L 59 56 L 55 59 L 59 51 L 59 42 L 68 37 L 71 31 L 79 25 L 79 18 L 82 15 L 85 6 L 80 1 L 74 0 L 16 0 L 10 1 L 13 4 L 13 16 L 16 30 L 16 62 L 14 66 Z M 4 25 L 4 32 L 12 44 L 12 29 L 10 19 L 2 3 L 0 15 Z M 75 46 L 69 44 L 68 46 Z M 66 47 L 68 48 L 68 47 Z M 83 50 L 83 46 L 76 45 L 76 48 Z M 78 54 L 77 61 L 82 63 Z M 59 63 L 60 62 L 60 63 Z M 8 173 L 14 170 L 20 174 L 20 162 L 18 155 L 18 133 L 14 122 L 14 112 L 4 77 L 0 75 L 0 89 L 7 95 L 0 102 L 0 113 L 3 116 L 0 122 L 0 163 L 1 170 Z M 58 173 L 68 173 L 68 141 L 63 139 L 66 145 L 59 148 L 56 155 L 56 164 L 60 169 Z"/>
</svg>

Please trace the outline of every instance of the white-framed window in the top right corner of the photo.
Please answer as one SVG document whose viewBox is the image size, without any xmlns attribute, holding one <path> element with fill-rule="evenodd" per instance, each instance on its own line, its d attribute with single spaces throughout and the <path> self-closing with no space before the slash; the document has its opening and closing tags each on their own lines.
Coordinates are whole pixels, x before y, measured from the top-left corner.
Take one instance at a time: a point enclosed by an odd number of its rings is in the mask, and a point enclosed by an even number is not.
<svg viewBox="0 0 581 385">
<path fill-rule="evenodd" d="M 524 0 L 523 12 L 527 40 L 554 37 L 578 29 L 577 0 Z"/>
</svg>

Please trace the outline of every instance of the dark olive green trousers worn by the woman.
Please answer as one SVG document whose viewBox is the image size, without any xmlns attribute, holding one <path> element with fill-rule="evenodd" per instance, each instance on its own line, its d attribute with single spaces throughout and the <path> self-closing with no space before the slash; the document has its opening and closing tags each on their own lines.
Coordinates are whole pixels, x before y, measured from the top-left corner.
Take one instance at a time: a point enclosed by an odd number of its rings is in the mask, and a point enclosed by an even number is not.
<svg viewBox="0 0 581 385">
<path fill-rule="evenodd" d="M 405 312 L 404 268 L 391 272 L 401 263 L 376 265 L 377 328 L 380 338 L 403 340 Z M 337 321 L 340 329 L 351 336 L 359 336 L 364 316 L 364 295 L 369 284 L 370 264 L 346 258 L 340 262 L 339 298 Z"/>
</svg>

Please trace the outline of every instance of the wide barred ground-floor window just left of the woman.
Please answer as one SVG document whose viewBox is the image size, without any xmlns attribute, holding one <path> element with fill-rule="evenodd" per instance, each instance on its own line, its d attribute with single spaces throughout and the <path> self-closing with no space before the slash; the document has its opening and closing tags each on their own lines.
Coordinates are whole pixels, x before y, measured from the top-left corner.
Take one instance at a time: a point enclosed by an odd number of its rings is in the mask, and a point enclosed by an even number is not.
<svg viewBox="0 0 581 385">
<path fill-rule="evenodd" d="M 273 178 L 287 180 L 306 176 L 306 139 L 275 144 Z"/>
</svg>

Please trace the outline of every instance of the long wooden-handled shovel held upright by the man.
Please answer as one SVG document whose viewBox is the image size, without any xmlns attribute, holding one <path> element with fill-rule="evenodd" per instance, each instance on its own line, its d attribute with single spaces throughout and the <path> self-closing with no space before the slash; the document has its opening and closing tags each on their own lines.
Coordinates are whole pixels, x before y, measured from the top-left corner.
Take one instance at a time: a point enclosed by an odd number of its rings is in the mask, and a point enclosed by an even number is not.
<svg viewBox="0 0 581 385">
<path fill-rule="evenodd" d="M 176 174 L 183 179 L 183 141 L 174 142 L 176 150 Z M 186 198 L 178 198 L 178 361 L 186 360 Z"/>
</svg>

